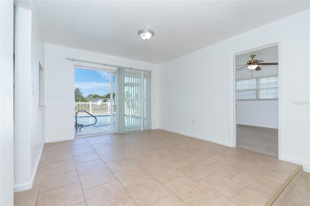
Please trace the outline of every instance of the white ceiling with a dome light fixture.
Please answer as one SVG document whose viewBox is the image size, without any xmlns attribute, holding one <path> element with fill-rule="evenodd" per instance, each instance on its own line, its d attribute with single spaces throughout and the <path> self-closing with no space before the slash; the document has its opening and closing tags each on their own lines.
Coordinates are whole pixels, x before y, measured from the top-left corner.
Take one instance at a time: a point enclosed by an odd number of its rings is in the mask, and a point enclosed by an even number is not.
<svg viewBox="0 0 310 206">
<path fill-rule="evenodd" d="M 310 8 L 309 0 L 37 0 L 47 44 L 161 64 Z M 154 37 L 144 42 L 140 29 Z"/>
</svg>

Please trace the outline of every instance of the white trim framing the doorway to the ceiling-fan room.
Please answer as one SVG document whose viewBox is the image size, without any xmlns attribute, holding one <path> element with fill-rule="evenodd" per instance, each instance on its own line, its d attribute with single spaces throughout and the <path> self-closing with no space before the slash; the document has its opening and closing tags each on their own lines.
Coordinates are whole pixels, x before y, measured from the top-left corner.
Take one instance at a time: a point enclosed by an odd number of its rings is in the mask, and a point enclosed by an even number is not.
<svg viewBox="0 0 310 206">
<path fill-rule="evenodd" d="M 248 53 L 251 51 L 256 51 L 259 49 L 263 49 L 269 46 L 278 45 L 278 76 L 279 76 L 279 99 L 278 99 L 278 158 L 279 160 L 283 160 L 283 100 L 284 100 L 284 92 L 283 92 L 283 40 L 279 39 L 278 41 L 273 41 L 271 43 L 260 44 L 257 46 L 252 46 L 243 50 L 236 51 L 231 55 L 232 61 L 232 81 L 231 88 L 233 91 L 231 92 L 231 100 L 232 100 L 232 118 L 231 118 L 231 147 L 236 147 L 237 145 L 237 129 L 236 129 L 236 56 L 244 53 Z"/>
</svg>

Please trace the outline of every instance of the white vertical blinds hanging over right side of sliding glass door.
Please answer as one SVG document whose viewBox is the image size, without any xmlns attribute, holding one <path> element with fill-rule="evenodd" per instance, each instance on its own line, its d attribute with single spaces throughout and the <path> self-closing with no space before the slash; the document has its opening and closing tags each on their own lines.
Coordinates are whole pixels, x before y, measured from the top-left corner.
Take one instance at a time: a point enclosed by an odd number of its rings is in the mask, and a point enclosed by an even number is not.
<svg viewBox="0 0 310 206">
<path fill-rule="evenodd" d="M 118 133 L 151 130 L 151 72 L 118 68 Z"/>
</svg>

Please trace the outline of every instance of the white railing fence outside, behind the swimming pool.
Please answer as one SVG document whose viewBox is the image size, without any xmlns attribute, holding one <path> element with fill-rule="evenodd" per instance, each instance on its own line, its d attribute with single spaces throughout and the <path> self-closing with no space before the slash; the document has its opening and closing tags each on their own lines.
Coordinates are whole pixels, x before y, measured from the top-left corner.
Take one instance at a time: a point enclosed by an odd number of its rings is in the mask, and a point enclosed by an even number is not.
<svg viewBox="0 0 310 206">
<path fill-rule="evenodd" d="M 113 104 L 113 103 L 112 103 Z M 113 113 L 115 113 L 115 105 L 113 106 Z M 75 113 L 78 110 L 85 110 L 94 115 L 105 115 L 110 114 L 111 105 L 110 103 L 75 103 Z M 79 112 L 78 115 L 86 115 L 85 112 Z"/>
</svg>

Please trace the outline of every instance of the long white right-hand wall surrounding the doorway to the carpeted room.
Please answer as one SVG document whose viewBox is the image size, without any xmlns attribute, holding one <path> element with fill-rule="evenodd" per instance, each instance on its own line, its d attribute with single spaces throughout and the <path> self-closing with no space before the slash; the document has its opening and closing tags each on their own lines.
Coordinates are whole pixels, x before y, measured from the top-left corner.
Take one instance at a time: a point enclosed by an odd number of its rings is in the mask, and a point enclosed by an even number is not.
<svg viewBox="0 0 310 206">
<path fill-rule="evenodd" d="M 233 55 L 279 42 L 279 159 L 310 172 L 310 10 L 160 65 L 159 127 L 234 146 Z M 255 41 L 253 41 L 255 40 Z M 192 123 L 194 120 L 194 124 Z"/>
</svg>

